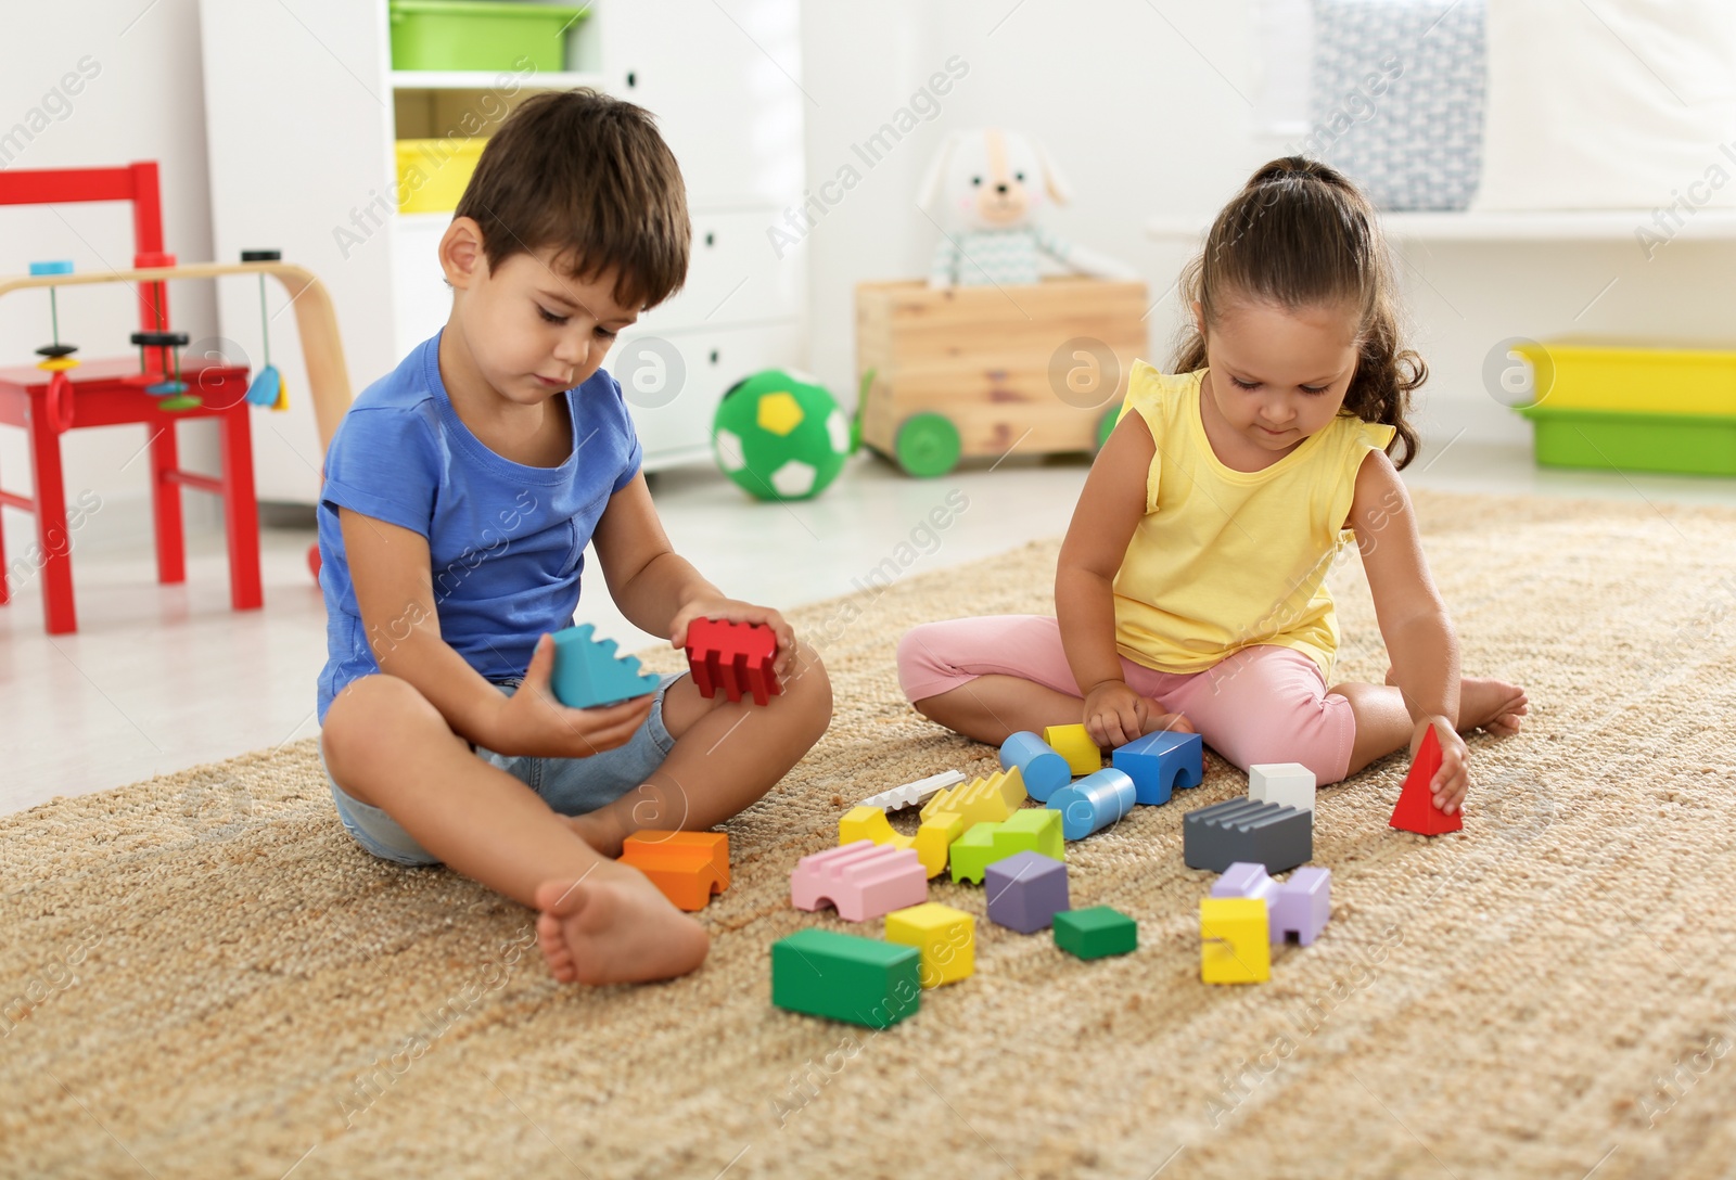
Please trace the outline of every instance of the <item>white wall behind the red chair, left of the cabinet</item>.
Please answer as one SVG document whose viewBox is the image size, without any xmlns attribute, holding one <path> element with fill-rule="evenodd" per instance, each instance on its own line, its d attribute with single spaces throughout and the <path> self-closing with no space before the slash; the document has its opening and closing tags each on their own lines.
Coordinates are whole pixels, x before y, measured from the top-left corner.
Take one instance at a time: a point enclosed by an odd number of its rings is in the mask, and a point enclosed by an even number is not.
<svg viewBox="0 0 1736 1180">
<path fill-rule="evenodd" d="M 182 260 L 210 257 L 210 189 L 205 174 L 205 92 L 200 78 L 196 0 L 89 0 L 73 5 L 0 2 L 0 137 L 26 128 L 42 111 L 47 127 L 21 151 L 0 148 L 0 167 L 75 168 L 156 160 L 163 189 L 163 238 Z M 66 97 L 62 76 L 95 71 L 82 92 Z M 283 80 L 262 80 L 283 85 Z M 56 94 L 59 90 L 59 94 Z M 54 97 L 50 97 L 54 95 Z M 40 116 L 40 118 L 42 118 Z M 262 182 L 269 184 L 269 177 Z M 21 274 L 31 262 L 71 259 L 80 271 L 132 264 L 130 206 L 120 203 L 0 206 L 0 274 Z M 127 356 L 137 330 L 137 302 L 128 286 L 61 292 L 61 338 L 82 357 Z M 177 330 L 193 340 L 217 333 L 215 300 L 207 283 L 174 283 L 168 307 Z M 38 292 L 0 298 L 0 366 L 33 364 L 49 342 L 49 300 Z M 217 470 L 212 423 L 179 429 L 184 467 Z M 92 489 L 102 508 L 75 545 L 102 543 L 149 529 L 149 469 L 130 462 L 146 441 L 144 427 L 73 430 L 61 439 L 66 495 Z M 30 493 L 33 484 L 24 432 L 0 429 L 0 486 Z M 189 522 L 217 521 L 215 502 L 186 493 Z M 35 538 L 35 517 L 5 510 L 9 555 Z"/>
</svg>

